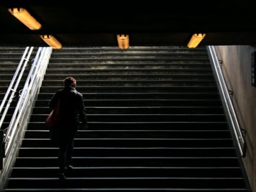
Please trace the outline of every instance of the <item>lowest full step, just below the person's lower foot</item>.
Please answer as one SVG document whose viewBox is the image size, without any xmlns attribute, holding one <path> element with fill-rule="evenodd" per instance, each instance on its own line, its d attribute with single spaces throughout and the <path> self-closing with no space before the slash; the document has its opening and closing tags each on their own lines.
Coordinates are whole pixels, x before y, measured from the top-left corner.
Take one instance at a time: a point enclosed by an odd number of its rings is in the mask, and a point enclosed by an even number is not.
<svg viewBox="0 0 256 192">
<path fill-rule="evenodd" d="M 45 185 L 47 183 L 47 186 Z M 233 188 L 243 188 L 243 178 L 186 178 L 186 177 L 146 177 L 146 178 L 70 178 L 62 182 L 59 178 L 10 178 L 10 188 L 93 188 L 98 189 L 98 184 L 101 183 L 100 189 L 102 188 L 115 188 L 115 189 L 134 189 L 134 188 L 214 188 L 214 189 L 229 189 L 230 186 Z"/>
</svg>

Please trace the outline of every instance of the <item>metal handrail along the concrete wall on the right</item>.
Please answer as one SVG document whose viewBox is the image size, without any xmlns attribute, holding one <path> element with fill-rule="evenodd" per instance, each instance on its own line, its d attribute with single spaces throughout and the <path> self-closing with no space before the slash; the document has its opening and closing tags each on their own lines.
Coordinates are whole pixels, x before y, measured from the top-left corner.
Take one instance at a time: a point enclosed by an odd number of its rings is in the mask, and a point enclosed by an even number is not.
<svg viewBox="0 0 256 192">
<path fill-rule="evenodd" d="M 207 50 L 210 54 L 210 60 L 212 63 L 212 67 L 216 72 L 216 77 L 218 80 L 218 88 L 220 89 L 221 97 L 224 102 L 224 106 L 226 106 L 227 115 L 229 118 L 229 122 L 234 132 L 234 136 L 236 137 L 236 141 L 238 143 L 238 149 L 241 153 L 242 157 L 245 157 L 247 151 L 247 143 L 246 143 L 246 131 L 242 129 L 241 125 L 239 124 L 236 111 L 234 110 L 234 106 L 229 95 L 229 90 L 224 79 L 220 61 L 218 60 L 218 56 L 216 54 L 216 50 L 214 46 L 207 46 Z"/>
</svg>

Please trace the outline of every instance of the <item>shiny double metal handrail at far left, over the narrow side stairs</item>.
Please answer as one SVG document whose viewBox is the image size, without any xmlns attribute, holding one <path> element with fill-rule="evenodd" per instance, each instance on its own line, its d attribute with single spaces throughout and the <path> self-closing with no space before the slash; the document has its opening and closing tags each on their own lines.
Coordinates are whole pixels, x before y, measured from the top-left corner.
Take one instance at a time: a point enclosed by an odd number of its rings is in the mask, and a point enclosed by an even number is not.
<svg viewBox="0 0 256 192">
<path fill-rule="evenodd" d="M 12 81 L 11 81 L 11 83 L 10 83 L 8 89 L 7 89 L 7 92 L 4 95 L 4 98 L 3 98 L 1 106 L 0 106 L 0 114 L 2 112 L 4 104 L 6 104 L 6 101 L 7 101 L 7 98 L 9 96 L 9 93 L 12 91 L 12 94 L 10 95 L 10 97 L 8 99 L 6 108 L 3 111 L 2 118 L 0 119 L 0 128 L 2 127 L 4 118 L 7 115 L 7 112 L 9 110 L 9 107 L 10 107 L 11 103 L 12 103 L 12 100 L 15 97 L 15 93 L 17 92 L 17 88 L 19 86 L 20 80 L 22 79 L 22 76 L 23 76 L 23 73 L 25 71 L 25 68 L 27 67 L 27 63 L 29 61 L 29 58 L 30 58 L 30 55 L 32 54 L 33 49 L 34 49 L 34 47 L 30 47 L 30 50 L 29 50 L 29 47 L 26 47 L 26 49 L 24 51 L 24 54 L 23 54 L 23 56 L 22 56 L 22 58 L 21 58 L 21 60 L 19 62 L 18 67 L 17 67 L 17 70 L 15 71 L 14 76 L 12 78 Z M 29 50 L 29 52 L 28 52 L 28 50 Z M 28 52 L 28 54 L 27 54 L 27 52 Z M 20 68 L 21 68 L 21 71 L 20 71 Z M 18 74 L 19 74 L 19 76 L 18 76 Z M 17 79 L 17 77 L 18 77 L 18 79 Z M 15 83 L 15 86 L 13 88 L 13 84 L 14 84 L 15 81 L 16 81 L 16 83 Z"/>
</svg>

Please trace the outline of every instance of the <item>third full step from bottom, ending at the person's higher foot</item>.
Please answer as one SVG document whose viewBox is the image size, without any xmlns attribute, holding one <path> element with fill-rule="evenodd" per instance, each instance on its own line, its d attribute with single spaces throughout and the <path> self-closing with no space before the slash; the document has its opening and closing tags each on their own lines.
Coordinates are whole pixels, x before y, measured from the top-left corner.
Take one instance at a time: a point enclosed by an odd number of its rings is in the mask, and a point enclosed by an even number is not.
<svg viewBox="0 0 256 192">
<path fill-rule="evenodd" d="M 58 167 L 57 156 L 17 157 L 15 167 Z M 75 167 L 239 167 L 237 157 L 77 157 Z"/>
</svg>

